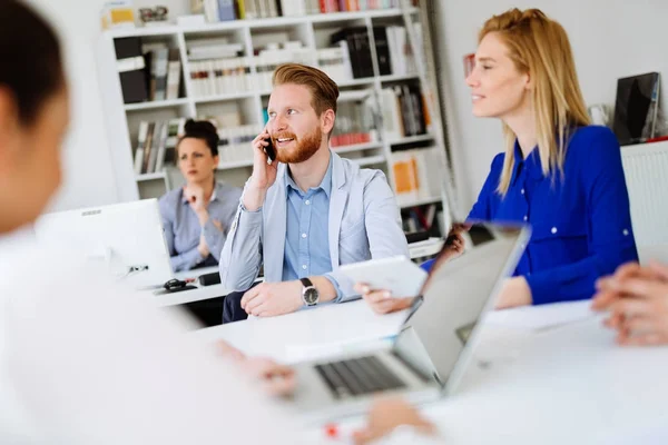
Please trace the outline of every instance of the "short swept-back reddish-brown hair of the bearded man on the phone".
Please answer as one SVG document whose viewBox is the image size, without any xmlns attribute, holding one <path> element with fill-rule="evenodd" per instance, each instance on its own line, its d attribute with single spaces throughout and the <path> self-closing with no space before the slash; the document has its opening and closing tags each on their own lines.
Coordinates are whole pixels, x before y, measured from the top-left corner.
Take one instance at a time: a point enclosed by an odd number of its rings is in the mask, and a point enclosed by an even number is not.
<svg viewBox="0 0 668 445">
<path fill-rule="evenodd" d="M 328 109 L 336 113 L 338 86 L 325 72 L 299 63 L 279 65 L 272 77 L 272 85 L 277 87 L 285 83 L 308 88 L 312 96 L 311 106 L 318 117 Z"/>
</svg>

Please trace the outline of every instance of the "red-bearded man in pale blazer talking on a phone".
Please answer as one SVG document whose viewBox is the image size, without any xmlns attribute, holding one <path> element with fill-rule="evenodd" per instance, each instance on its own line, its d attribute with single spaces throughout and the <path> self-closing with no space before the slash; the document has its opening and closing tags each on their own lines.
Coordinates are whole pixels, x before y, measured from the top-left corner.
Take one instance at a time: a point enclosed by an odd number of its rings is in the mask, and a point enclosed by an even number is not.
<svg viewBox="0 0 668 445">
<path fill-rule="evenodd" d="M 384 174 L 330 150 L 336 83 L 318 69 L 286 63 L 273 86 L 269 121 L 253 140 L 253 175 L 220 255 L 222 283 L 237 291 L 226 298 L 224 323 L 356 298 L 340 265 L 409 255 Z M 263 263 L 265 283 L 248 289 Z"/>
</svg>

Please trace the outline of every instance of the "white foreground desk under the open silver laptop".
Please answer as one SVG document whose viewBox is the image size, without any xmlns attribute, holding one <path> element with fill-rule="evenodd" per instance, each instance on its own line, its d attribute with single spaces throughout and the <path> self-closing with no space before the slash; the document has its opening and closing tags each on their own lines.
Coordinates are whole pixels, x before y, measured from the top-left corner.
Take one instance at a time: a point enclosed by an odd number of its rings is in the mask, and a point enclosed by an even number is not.
<svg viewBox="0 0 668 445">
<path fill-rule="evenodd" d="M 557 309 L 520 310 L 543 316 Z M 321 343 L 330 352 L 336 342 L 392 335 L 401 319 L 375 316 L 356 301 L 191 335 L 224 338 L 248 354 L 289 360 L 291 345 L 313 349 Z M 668 348 L 622 348 L 613 337 L 591 317 L 540 332 L 485 324 L 475 364 L 458 394 L 423 411 L 441 427 L 446 444 L 659 443 L 641 432 L 668 433 L 660 429 L 668 425 Z M 481 360 L 491 365 L 483 368 Z M 345 421 L 342 429 L 361 422 Z M 320 429 L 308 435 L 313 443 L 323 441 Z"/>
</svg>

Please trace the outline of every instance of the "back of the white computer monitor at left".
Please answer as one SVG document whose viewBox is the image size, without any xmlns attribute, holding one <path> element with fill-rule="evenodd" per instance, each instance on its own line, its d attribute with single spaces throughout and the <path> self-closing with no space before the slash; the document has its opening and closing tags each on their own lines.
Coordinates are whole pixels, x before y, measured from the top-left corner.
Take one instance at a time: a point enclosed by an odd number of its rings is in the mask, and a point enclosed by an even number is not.
<svg viewBox="0 0 668 445">
<path fill-rule="evenodd" d="M 46 214 L 35 233 L 38 241 L 101 264 L 135 288 L 173 277 L 157 199 Z"/>
</svg>

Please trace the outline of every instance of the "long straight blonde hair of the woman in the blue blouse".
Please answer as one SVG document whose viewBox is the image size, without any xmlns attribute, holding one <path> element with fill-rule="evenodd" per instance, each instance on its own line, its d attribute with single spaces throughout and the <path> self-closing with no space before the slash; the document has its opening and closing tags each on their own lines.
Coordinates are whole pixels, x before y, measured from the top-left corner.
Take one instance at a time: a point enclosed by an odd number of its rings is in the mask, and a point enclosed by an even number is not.
<svg viewBox="0 0 668 445">
<path fill-rule="evenodd" d="M 571 46 L 566 31 L 538 9 L 511 9 L 485 21 L 478 41 L 497 33 L 520 72 L 529 72 L 538 152 L 544 176 L 563 175 L 571 127 L 589 125 Z M 505 196 L 514 164 L 517 136 L 503 123 L 505 159 L 497 191 Z"/>
</svg>

